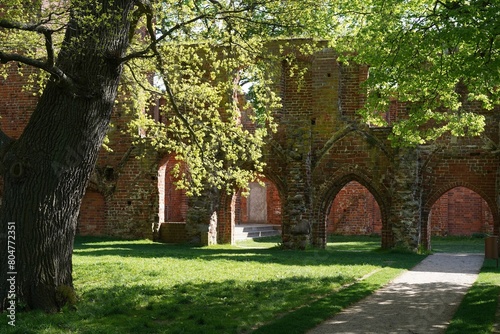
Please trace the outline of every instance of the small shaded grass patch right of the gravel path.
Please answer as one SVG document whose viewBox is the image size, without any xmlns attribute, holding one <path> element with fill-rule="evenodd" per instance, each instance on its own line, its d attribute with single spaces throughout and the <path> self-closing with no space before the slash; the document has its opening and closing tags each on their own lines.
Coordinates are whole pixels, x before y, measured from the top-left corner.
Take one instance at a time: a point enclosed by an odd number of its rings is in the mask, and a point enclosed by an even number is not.
<svg viewBox="0 0 500 334">
<path fill-rule="evenodd" d="M 485 260 L 446 333 L 491 333 L 500 296 L 500 270 L 496 260 Z"/>
</svg>

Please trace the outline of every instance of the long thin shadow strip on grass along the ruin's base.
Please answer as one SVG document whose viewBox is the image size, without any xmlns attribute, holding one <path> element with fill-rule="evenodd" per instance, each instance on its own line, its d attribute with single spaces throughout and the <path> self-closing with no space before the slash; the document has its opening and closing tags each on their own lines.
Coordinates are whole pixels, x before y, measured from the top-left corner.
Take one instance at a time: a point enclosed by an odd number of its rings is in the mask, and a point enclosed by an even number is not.
<svg viewBox="0 0 500 334">
<path fill-rule="evenodd" d="M 353 246 L 328 247 L 322 249 L 284 250 L 242 249 L 231 247 L 193 247 L 190 245 L 172 245 L 148 243 L 146 241 L 123 241 L 112 239 L 82 238 L 75 242 L 74 253 L 79 256 L 119 256 L 135 258 L 175 258 L 196 259 L 201 261 L 227 260 L 237 262 L 276 263 L 294 266 L 322 265 L 376 265 L 381 267 L 407 268 L 408 261 L 422 259 L 423 256 L 412 253 L 381 251 L 378 248 Z M 363 246 L 361 246 L 363 247 Z"/>
</svg>

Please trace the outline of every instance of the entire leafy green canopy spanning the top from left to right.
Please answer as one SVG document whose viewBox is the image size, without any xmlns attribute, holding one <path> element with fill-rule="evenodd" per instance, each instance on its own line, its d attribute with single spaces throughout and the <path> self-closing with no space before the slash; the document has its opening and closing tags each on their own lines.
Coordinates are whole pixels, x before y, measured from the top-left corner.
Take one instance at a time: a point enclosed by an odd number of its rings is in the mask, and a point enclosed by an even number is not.
<svg viewBox="0 0 500 334">
<path fill-rule="evenodd" d="M 98 39 L 99 27 L 120 15 L 109 9 L 112 1 L 3 1 L 0 61 L 42 69 L 31 80 L 42 88 L 48 75 L 64 78 L 57 54 L 70 13 L 88 30 L 82 38 Z M 329 40 L 342 61 L 369 64 L 361 112 L 383 124 L 392 100 L 407 102 L 408 117 L 392 124 L 402 145 L 478 134 L 484 116 L 470 101 L 486 110 L 499 104 L 495 0 L 130 1 L 131 46 L 118 59 L 125 65 L 121 96 L 128 97 L 120 103 L 134 115 L 129 131 L 185 163 L 175 170 L 192 193 L 207 184 L 245 187 L 262 171 L 261 147 L 280 107 L 274 87 L 284 55 L 267 48 L 276 39 Z M 80 45 L 64 52 L 82 52 Z M 143 112 L 158 97 L 163 122 Z M 240 114 L 250 109 L 258 125 L 246 130 Z"/>
</svg>

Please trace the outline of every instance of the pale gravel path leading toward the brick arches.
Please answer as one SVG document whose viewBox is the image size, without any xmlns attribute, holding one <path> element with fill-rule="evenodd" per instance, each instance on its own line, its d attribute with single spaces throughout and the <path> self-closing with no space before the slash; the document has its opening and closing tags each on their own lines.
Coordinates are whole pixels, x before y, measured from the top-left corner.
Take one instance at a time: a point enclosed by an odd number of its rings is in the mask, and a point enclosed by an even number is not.
<svg viewBox="0 0 500 334">
<path fill-rule="evenodd" d="M 430 255 L 308 333 L 443 333 L 483 259 L 482 254 Z"/>
</svg>

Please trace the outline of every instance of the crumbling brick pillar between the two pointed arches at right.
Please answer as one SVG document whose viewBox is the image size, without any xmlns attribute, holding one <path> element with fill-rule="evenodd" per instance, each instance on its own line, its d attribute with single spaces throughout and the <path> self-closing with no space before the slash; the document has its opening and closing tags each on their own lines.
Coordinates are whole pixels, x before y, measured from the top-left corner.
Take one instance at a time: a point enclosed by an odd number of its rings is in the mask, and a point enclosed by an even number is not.
<svg viewBox="0 0 500 334">
<path fill-rule="evenodd" d="M 418 149 L 401 150 L 394 161 L 389 226 L 392 245 L 417 251 L 421 244 L 421 175 Z"/>
</svg>

